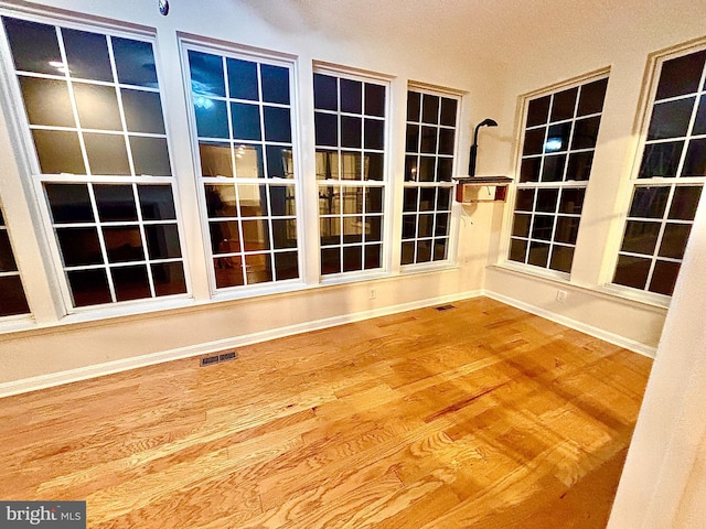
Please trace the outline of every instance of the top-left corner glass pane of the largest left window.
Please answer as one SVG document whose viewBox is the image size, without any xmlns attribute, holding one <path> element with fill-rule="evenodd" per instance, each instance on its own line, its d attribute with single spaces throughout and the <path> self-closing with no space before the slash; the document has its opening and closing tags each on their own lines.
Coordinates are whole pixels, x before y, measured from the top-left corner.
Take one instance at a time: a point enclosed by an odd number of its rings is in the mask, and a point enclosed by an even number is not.
<svg viewBox="0 0 706 529">
<path fill-rule="evenodd" d="M 2 21 L 17 69 L 53 75 L 60 73 L 50 64 L 62 62 L 56 29 L 53 25 L 8 17 L 3 17 Z"/>
</svg>

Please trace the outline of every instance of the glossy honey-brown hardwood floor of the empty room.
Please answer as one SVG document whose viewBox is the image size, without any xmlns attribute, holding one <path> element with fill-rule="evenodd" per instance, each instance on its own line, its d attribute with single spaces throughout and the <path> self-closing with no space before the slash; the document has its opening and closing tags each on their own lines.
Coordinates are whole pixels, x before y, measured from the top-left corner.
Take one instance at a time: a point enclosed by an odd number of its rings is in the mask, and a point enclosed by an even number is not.
<svg viewBox="0 0 706 529">
<path fill-rule="evenodd" d="M 107 528 L 603 528 L 651 360 L 480 298 L 0 400 Z"/>
</svg>

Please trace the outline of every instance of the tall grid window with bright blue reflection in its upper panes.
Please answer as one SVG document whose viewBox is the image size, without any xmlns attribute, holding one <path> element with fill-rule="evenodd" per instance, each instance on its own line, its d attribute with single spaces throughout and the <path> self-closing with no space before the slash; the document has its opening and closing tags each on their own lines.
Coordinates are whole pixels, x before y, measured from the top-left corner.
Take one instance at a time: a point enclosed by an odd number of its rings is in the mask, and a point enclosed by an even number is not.
<svg viewBox="0 0 706 529">
<path fill-rule="evenodd" d="M 215 287 L 298 279 L 292 65 L 188 57 Z"/>
</svg>

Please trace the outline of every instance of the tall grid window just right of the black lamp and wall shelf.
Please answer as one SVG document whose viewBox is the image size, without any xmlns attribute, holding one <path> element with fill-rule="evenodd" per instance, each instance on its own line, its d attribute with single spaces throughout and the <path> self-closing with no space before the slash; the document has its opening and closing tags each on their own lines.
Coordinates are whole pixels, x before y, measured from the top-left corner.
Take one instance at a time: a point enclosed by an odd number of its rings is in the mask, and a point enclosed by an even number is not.
<svg viewBox="0 0 706 529">
<path fill-rule="evenodd" d="M 607 86 L 600 78 L 528 101 L 510 260 L 571 270 Z"/>
</svg>

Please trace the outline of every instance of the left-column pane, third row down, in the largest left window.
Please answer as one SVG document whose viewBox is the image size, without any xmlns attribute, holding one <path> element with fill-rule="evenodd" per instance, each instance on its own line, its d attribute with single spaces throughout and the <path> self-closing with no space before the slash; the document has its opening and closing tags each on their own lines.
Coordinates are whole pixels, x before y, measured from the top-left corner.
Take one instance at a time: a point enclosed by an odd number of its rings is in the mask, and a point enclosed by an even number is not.
<svg viewBox="0 0 706 529">
<path fill-rule="evenodd" d="M 86 174 L 78 134 L 65 130 L 33 130 L 43 174 Z"/>
</svg>

